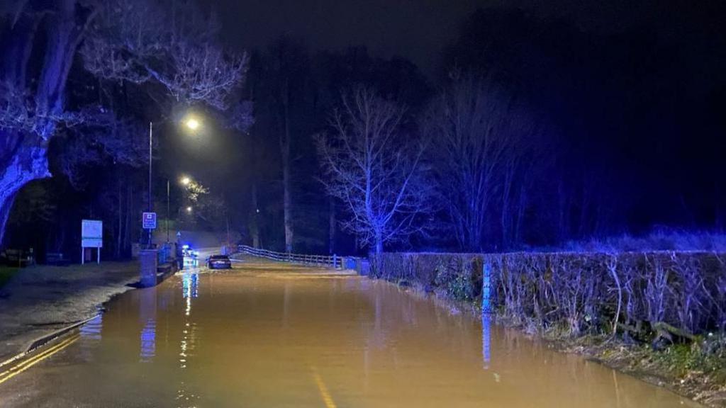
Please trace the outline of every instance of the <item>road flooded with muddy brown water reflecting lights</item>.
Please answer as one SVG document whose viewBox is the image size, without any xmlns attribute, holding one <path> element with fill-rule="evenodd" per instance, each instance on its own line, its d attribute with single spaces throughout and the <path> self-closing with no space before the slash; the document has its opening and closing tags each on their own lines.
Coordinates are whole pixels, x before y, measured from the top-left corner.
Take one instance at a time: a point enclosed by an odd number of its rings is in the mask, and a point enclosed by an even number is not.
<svg viewBox="0 0 726 408">
<path fill-rule="evenodd" d="M 271 267 L 115 298 L 0 376 L 0 407 L 698 407 L 387 282 Z"/>
</svg>

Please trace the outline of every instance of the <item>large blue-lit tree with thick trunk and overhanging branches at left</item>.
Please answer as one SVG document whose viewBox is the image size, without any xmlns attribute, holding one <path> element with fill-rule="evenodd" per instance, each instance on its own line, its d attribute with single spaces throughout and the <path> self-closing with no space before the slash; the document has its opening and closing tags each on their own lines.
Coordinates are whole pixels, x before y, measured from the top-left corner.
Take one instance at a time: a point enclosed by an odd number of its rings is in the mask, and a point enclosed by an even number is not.
<svg viewBox="0 0 726 408">
<path fill-rule="evenodd" d="M 160 88 L 178 105 L 227 107 L 247 59 L 224 53 L 213 41 L 213 19 L 203 16 L 191 3 L 174 1 L 17 0 L 0 6 L 0 242 L 20 188 L 51 175 L 50 141 L 68 128 L 116 123 L 105 108 L 68 104 L 68 74 L 79 54 L 102 81 Z M 132 151 L 118 134 L 93 136 L 115 158 Z"/>
</svg>

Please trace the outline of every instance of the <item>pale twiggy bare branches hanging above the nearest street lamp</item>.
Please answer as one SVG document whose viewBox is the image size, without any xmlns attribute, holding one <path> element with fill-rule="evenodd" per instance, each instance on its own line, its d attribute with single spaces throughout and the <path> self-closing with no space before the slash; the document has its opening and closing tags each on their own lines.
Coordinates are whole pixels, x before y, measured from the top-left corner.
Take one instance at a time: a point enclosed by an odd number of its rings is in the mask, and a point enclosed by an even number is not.
<svg viewBox="0 0 726 408">
<path fill-rule="evenodd" d="M 113 0 L 105 3 L 81 48 L 99 78 L 156 81 L 175 102 L 225 110 L 245 75 L 247 54 L 227 54 L 214 41 L 214 16 L 190 1 Z"/>
</svg>

